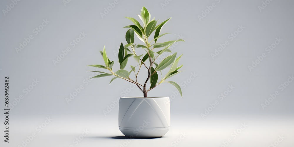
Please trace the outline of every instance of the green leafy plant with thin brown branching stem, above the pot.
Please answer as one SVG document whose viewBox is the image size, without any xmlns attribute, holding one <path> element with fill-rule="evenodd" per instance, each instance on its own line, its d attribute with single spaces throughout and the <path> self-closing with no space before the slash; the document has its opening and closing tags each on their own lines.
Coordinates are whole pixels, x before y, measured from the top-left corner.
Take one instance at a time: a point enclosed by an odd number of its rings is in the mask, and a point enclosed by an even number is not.
<svg viewBox="0 0 294 147">
<path fill-rule="evenodd" d="M 126 32 L 126 44 L 125 46 L 121 43 L 119 51 L 118 51 L 118 62 L 120 65 L 120 69 L 117 71 L 112 70 L 112 66 L 114 64 L 114 61 L 111 61 L 107 55 L 105 46 L 103 47 L 103 51 L 100 51 L 103 61 L 105 65 L 89 65 L 93 67 L 97 67 L 100 69 L 107 69 L 110 71 L 110 73 L 102 72 L 102 71 L 92 71 L 92 72 L 98 72 L 101 73 L 97 76 L 94 76 L 92 78 L 99 78 L 104 76 L 115 76 L 111 79 L 110 83 L 115 80 L 116 78 L 122 78 L 128 82 L 136 84 L 136 86 L 143 92 L 143 96 L 147 97 L 148 91 L 152 90 L 156 86 L 158 86 L 161 83 L 170 83 L 173 86 L 177 88 L 179 93 L 182 96 L 181 87 L 173 82 L 173 81 L 165 81 L 166 79 L 180 73 L 179 69 L 183 66 L 178 66 L 178 62 L 181 58 L 179 56 L 176 58 L 177 53 L 174 53 L 170 56 L 165 57 L 162 61 L 159 62 L 159 64 L 156 63 L 158 60 L 158 57 L 161 56 L 164 52 L 171 52 L 169 47 L 171 47 L 174 43 L 183 41 L 182 39 L 173 40 L 173 41 L 167 41 L 159 43 L 158 39 L 160 39 L 162 36 L 170 33 L 164 33 L 161 34 L 161 30 L 163 26 L 171 19 L 167 19 L 166 21 L 163 21 L 162 23 L 158 24 L 158 21 L 151 19 L 151 15 L 149 11 L 143 7 L 141 10 L 141 15 L 138 15 L 139 18 L 142 21 L 142 26 L 134 18 L 126 17 L 127 19 L 131 20 L 133 22 L 133 25 L 125 26 L 124 28 L 129 28 Z M 154 32 L 154 36 L 151 38 L 151 34 Z M 143 44 L 134 44 L 134 35 L 140 39 Z M 150 39 L 151 38 L 151 39 Z M 148 41 L 151 40 L 151 41 Z M 131 49 L 129 49 L 130 47 Z M 146 54 L 138 55 L 136 53 L 137 49 L 143 49 L 146 51 Z M 133 58 L 137 61 L 137 66 L 131 66 L 131 71 L 127 71 L 124 68 L 126 67 L 128 63 L 128 58 L 133 56 Z M 146 63 L 146 61 L 149 61 L 149 64 Z M 146 68 L 148 71 L 148 77 L 146 78 L 146 81 L 141 84 L 138 82 L 138 74 L 140 69 Z M 166 73 L 165 76 L 162 75 L 161 71 L 163 69 L 170 68 L 169 71 Z M 134 73 L 135 80 L 133 80 L 130 75 Z M 158 75 L 161 75 L 161 79 L 158 79 Z M 147 86 L 148 81 L 150 82 L 150 87 Z M 149 88 L 148 88 L 149 87 Z"/>
</svg>

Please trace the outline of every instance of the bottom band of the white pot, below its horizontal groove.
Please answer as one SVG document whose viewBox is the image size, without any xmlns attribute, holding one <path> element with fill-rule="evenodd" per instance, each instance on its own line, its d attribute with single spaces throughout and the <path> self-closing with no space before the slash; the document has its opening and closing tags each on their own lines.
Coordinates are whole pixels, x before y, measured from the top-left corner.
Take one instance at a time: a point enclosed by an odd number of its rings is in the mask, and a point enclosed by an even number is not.
<svg viewBox="0 0 294 147">
<path fill-rule="evenodd" d="M 130 138 L 157 138 L 162 137 L 164 134 L 168 132 L 170 127 L 162 127 L 162 128 L 127 128 L 127 127 L 119 127 L 119 130 L 123 135 L 128 136 Z"/>
</svg>

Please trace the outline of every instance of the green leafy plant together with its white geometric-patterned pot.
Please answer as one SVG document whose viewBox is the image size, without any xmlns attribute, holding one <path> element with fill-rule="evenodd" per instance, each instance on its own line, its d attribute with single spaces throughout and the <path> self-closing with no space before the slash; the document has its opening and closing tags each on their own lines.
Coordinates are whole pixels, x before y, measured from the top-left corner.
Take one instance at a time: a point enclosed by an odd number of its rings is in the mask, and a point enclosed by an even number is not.
<svg viewBox="0 0 294 147">
<path fill-rule="evenodd" d="M 178 70 L 183 65 L 178 66 L 178 62 L 182 55 L 176 58 L 177 53 L 174 53 L 164 58 L 159 64 L 157 64 L 156 61 L 164 52 L 171 52 L 168 48 L 175 42 L 183 40 L 178 39 L 159 43 L 158 39 L 160 37 L 169 34 L 161 34 L 161 29 L 169 19 L 156 25 L 157 21 L 154 19 L 150 20 L 151 15 L 145 7 L 142 8 L 141 15 L 138 16 L 143 22 L 142 26 L 136 19 L 126 17 L 134 24 L 124 27 L 129 28 L 126 32 L 126 41 L 128 44 L 123 45 L 121 43 L 118 51 L 120 69 L 117 71 L 113 70 L 114 61 L 111 61 L 107 57 L 105 46 L 103 51 L 100 51 L 104 65 L 89 66 L 109 71 L 108 73 L 93 71 L 101 74 L 92 78 L 114 76 L 110 83 L 117 78 L 121 78 L 135 84 L 143 92 L 143 97 L 121 97 L 119 100 L 118 126 L 119 130 L 125 136 L 135 138 L 161 137 L 166 134 L 170 127 L 169 98 L 147 97 L 147 93 L 161 83 L 170 83 L 178 89 L 182 96 L 181 87 L 177 83 L 166 81 L 168 78 L 181 72 Z M 153 32 L 154 37 L 151 38 L 150 36 Z M 143 43 L 134 44 L 135 34 Z M 137 51 L 145 52 L 144 54 L 138 54 Z M 137 65 L 131 65 L 130 70 L 127 71 L 125 67 L 131 56 L 133 56 Z M 144 78 L 143 83 L 138 82 L 140 69 L 145 69 L 146 72 L 148 72 L 148 76 Z M 167 71 L 165 76 L 163 76 L 162 73 L 164 69 Z M 158 80 L 159 75 L 161 76 L 161 80 Z"/>
</svg>

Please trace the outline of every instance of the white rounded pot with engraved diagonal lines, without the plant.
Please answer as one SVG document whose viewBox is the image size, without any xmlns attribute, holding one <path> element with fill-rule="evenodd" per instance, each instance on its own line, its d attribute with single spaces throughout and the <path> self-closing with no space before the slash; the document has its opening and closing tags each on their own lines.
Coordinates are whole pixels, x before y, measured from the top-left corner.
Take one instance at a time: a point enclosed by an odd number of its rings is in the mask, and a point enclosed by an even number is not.
<svg viewBox="0 0 294 147">
<path fill-rule="evenodd" d="M 121 97 L 118 128 L 130 138 L 161 137 L 171 123 L 168 97 Z"/>
</svg>

